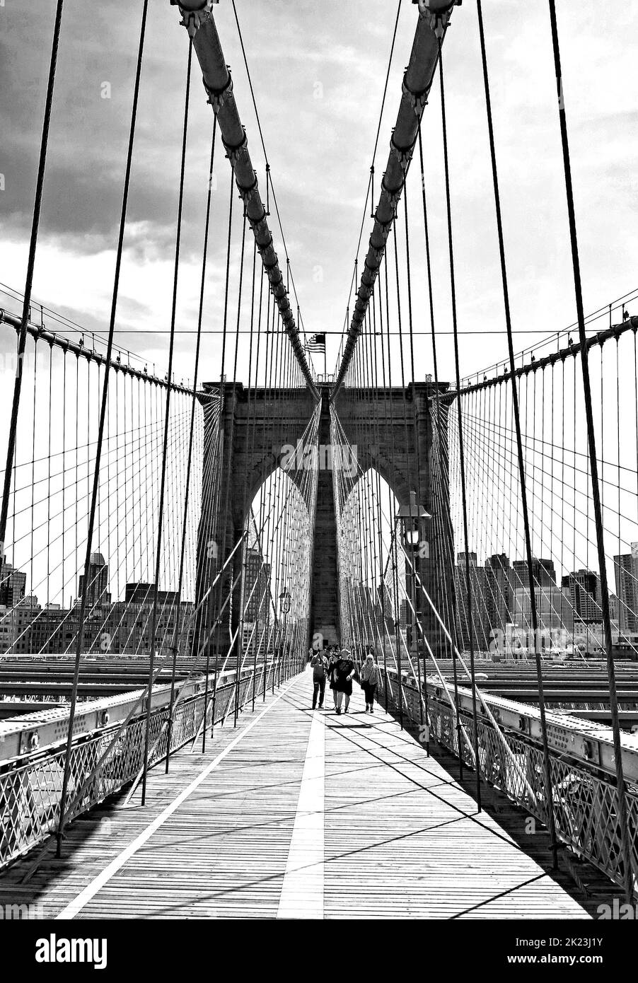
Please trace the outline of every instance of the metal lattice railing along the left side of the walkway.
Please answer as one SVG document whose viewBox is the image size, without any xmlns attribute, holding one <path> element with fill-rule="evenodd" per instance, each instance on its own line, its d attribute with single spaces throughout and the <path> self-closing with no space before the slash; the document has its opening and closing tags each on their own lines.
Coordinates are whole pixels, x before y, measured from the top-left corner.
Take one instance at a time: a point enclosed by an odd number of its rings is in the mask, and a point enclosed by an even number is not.
<svg viewBox="0 0 638 983">
<path fill-rule="evenodd" d="M 201 691 L 179 703 L 170 722 L 167 706 L 153 709 L 150 714 L 149 766 L 174 754 L 189 741 L 195 741 L 202 734 L 204 725 L 222 723 L 234 711 L 235 704 L 243 709 L 252 700 L 254 692 L 259 699 L 273 682 L 280 685 L 302 667 L 300 661 L 285 665 L 269 663 L 267 667 L 261 664 L 255 672 L 253 667 L 242 672 L 239 683 L 235 678 L 224 677 L 214 693 L 214 700 L 209 686 L 207 695 Z M 117 730 L 117 724 L 107 725 L 77 736 L 71 755 L 68 800 L 71 811 L 66 823 L 140 775 L 144 766 L 144 709 L 141 707 L 139 716 L 132 719 L 113 742 Z M 111 743 L 110 751 L 100 762 Z M 45 753 L 9 763 L 0 773 L 0 869 L 57 831 L 64 756 L 65 746 L 61 741 Z"/>
</svg>

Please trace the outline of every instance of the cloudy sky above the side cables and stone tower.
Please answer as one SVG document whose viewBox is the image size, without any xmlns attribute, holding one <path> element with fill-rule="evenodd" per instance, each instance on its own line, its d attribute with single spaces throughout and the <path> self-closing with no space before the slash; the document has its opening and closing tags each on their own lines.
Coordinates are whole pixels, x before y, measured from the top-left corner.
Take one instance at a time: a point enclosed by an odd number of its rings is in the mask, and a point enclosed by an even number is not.
<svg viewBox="0 0 638 983">
<path fill-rule="evenodd" d="M 342 328 L 396 0 L 236 0 L 266 150 L 306 330 Z M 87 330 L 108 325 L 114 246 L 142 3 L 65 3 L 60 62 L 33 298 Z M 0 281 L 24 289 L 37 150 L 54 0 L 6 0 L 0 7 Z M 214 8 L 235 94 L 262 181 L 264 160 L 231 0 Z M 573 321 L 551 34 L 546 0 L 485 0 L 494 124 L 517 348 Z M 638 174 L 636 59 L 638 8 L 602 9 L 559 0 L 586 311 L 638 286 L 633 235 Z M 377 173 L 387 158 L 417 18 L 403 0 Z M 118 308 L 117 343 L 167 363 L 179 152 L 188 39 L 168 0 L 151 0 L 140 119 Z M 454 10 L 445 41 L 449 152 L 462 374 L 503 357 L 490 161 L 475 4 Z M 104 83 L 110 98 L 102 98 Z M 211 112 L 199 67 L 193 75 L 178 329 L 196 327 Z M 449 377 L 449 270 L 444 224 L 437 85 L 424 117 L 432 215 L 436 326 L 441 375 Z M 221 326 L 228 161 L 215 166 L 217 195 L 204 327 Z M 417 168 L 411 174 L 416 286 L 415 329 L 430 328 Z M 415 194 L 416 192 L 416 194 Z M 237 209 L 239 211 L 239 209 Z M 364 244 L 371 222 L 366 219 Z M 281 236 L 273 227 L 280 259 Z M 421 237 L 423 233 L 421 232 Z M 237 263 L 234 256 L 233 262 Z M 0 306 L 17 310 L 0 298 Z M 619 318 L 618 318 L 619 319 Z M 604 326 L 601 324 L 600 326 Z M 134 333 L 138 332 L 138 333 Z M 432 371 L 419 336 L 417 372 Z M 4 343 L 3 343 L 4 344 Z M 339 346 L 328 334 L 328 371 Z M 6 350 L 6 348 L 5 348 Z M 192 376 L 193 335 L 178 339 L 177 376 Z M 219 372 L 219 335 L 206 335 L 203 373 Z M 318 365 L 318 370 L 322 366 Z"/>
</svg>

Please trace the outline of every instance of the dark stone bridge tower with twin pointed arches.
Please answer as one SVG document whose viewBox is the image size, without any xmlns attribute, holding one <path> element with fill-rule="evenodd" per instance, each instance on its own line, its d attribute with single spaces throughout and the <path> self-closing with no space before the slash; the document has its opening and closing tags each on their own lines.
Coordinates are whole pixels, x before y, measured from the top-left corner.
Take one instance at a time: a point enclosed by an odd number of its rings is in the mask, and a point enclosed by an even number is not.
<svg viewBox="0 0 638 983">
<path fill-rule="evenodd" d="M 280 466 L 284 446 L 301 439 L 316 408 L 310 390 L 302 387 L 249 390 L 241 383 L 234 386 L 226 383 L 223 405 L 220 405 L 218 383 L 207 383 L 203 388 L 208 395 L 203 397 L 204 495 L 198 541 L 198 598 L 203 596 L 223 558 L 241 537 L 253 498 L 261 484 Z M 447 385 L 440 386 L 441 392 L 446 389 Z M 329 391 L 328 386 L 320 387 L 319 444 L 326 446 L 330 443 Z M 211 394 L 216 394 L 216 398 L 211 399 Z M 417 382 L 409 385 L 405 394 L 400 387 L 357 389 L 356 392 L 341 389 L 334 404 L 347 439 L 357 447 L 363 472 L 376 469 L 400 505 L 409 504 L 410 492 L 419 487 L 421 505 L 431 515 L 435 508 L 449 511 L 446 501 L 441 503 L 439 498 L 435 501 L 431 415 L 434 395 L 434 383 Z M 446 447 L 445 423 L 443 427 Z M 219 460 L 221 468 L 213 468 Z M 294 470 L 286 473 L 293 481 L 297 480 Z M 307 506 L 311 506 L 311 502 L 307 501 Z M 224 513 L 227 516 L 225 529 L 218 529 L 217 516 Z M 310 634 L 312 638 L 313 634 L 320 633 L 335 644 L 341 641 L 341 626 L 336 513 L 330 470 L 319 470 L 315 518 Z M 435 574 L 437 551 L 442 545 L 436 541 L 434 521 L 425 522 L 429 523 L 426 536 L 430 556 L 418 559 L 417 569 L 431 596 L 437 598 L 444 589 L 440 576 Z M 216 558 L 209 555 L 211 542 L 215 543 Z M 232 569 L 229 564 L 225 573 L 220 596 L 227 596 L 232 581 L 241 571 L 239 553 L 240 550 L 234 557 Z M 232 605 L 235 622 L 239 605 L 236 587 Z M 429 623 L 428 612 L 424 611 L 424 624 Z"/>
</svg>

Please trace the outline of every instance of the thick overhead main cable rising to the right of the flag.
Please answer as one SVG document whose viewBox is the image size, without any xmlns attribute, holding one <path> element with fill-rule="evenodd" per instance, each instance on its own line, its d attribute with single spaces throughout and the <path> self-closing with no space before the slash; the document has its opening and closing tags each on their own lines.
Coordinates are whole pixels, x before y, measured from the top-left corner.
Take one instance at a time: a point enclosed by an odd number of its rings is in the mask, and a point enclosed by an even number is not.
<svg viewBox="0 0 638 983">
<path fill-rule="evenodd" d="M 401 193 L 412 160 L 412 153 L 419 133 L 423 111 L 435 77 L 438 47 L 442 44 L 452 7 L 460 0 L 420 0 L 419 22 L 414 35 L 410 62 L 403 77 L 403 92 L 396 123 L 390 139 L 390 152 L 381 182 L 381 193 L 375 212 L 375 225 L 370 237 L 370 247 L 364 262 L 364 271 L 357 293 L 357 301 L 348 329 L 341 366 L 332 387 L 334 399 L 343 384 L 362 324 L 375 288 L 378 270 L 385 253 L 389 235 L 401 200 Z"/>
</svg>

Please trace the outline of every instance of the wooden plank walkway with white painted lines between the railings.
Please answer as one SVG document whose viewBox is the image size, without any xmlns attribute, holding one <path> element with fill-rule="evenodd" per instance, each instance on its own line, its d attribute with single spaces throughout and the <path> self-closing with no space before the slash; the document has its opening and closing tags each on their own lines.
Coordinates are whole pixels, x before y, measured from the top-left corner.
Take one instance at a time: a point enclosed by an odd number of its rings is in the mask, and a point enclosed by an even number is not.
<svg viewBox="0 0 638 983">
<path fill-rule="evenodd" d="M 479 814 L 358 687 L 341 717 L 313 713 L 311 690 L 296 676 L 205 754 L 155 768 L 144 808 L 120 795 L 76 820 L 61 860 L 50 843 L 0 877 L 0 902 L 46 918 L 590 917 L 523 813 Z"/>
</svg>

